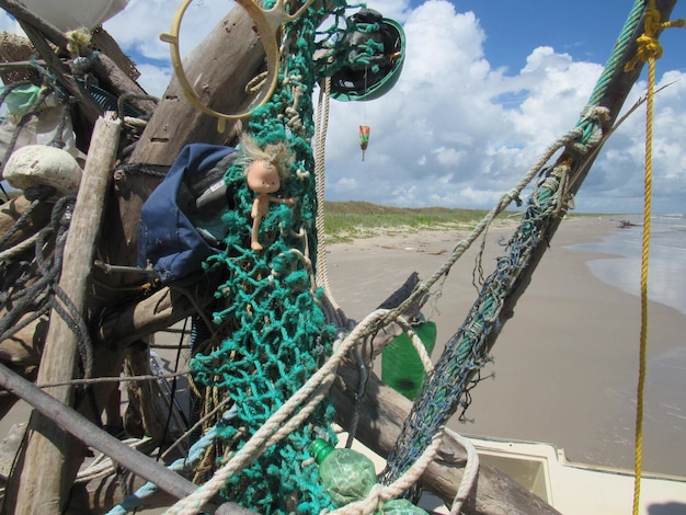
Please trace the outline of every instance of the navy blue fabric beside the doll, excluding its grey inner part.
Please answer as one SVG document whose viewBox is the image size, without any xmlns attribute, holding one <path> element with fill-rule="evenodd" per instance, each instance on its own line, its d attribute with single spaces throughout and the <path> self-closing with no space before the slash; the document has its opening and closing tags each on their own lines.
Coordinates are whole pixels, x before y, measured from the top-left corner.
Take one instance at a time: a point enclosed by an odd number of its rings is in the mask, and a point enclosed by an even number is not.
<svg viewBox="0 0 686 515">
<path fill-rule="evenodd" d="M 187 145 L 145 202 L 138 225 L 138 266 L 151 264 L 163 285 L 192 284 L 202 273 L 203 262 L 218 252 L 195 229 L 180 206 L 179 194 L 184 180 L 207 173 L 233 151 L 217 145 Z"/>
</svg>

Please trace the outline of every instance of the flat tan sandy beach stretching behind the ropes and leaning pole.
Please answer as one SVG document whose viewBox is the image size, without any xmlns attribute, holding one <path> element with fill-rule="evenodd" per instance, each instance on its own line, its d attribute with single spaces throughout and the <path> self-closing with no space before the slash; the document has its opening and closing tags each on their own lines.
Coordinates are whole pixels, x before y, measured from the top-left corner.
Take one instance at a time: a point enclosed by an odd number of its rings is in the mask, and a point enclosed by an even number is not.
<svg viewBox="0 0 686 515">
<path fill-rule="evenodd" d="M 591 273 L 590 260 L 609 255 L 571 248 L 617 230 L 627 229 L 618 229 L 609 218 L 562 222 L 493 348 L 493 363 L 483 370 L 493 377 L 471 391 L 466 413 L 471 422 L 454 417 L 451 428 L 465 435 L 549 443 L 563 448 L 572 461 L 633 468 L 640 298 Z M 511 232 L 489 231 L 484 275 L 494 270 Z M 464 234 L 389 231 L 331 244 L 327 261 L 333 297 L 348 317 L 359 320 L 411 272 L 428 277 Z M 434 362 L 477 299 L 471 281 L 478 252 L 476 244 L 465 253 L 423 311 L 438 327 Z M 649 362 L 683 351 L 686 314 L 651 301 L 648 327 Z M 665 379 L 649 366 L 643 470 L 686 476 L 686 401 L 684 389 L 677 388 L 684 379 L 674 373 Z"/>
</svg>

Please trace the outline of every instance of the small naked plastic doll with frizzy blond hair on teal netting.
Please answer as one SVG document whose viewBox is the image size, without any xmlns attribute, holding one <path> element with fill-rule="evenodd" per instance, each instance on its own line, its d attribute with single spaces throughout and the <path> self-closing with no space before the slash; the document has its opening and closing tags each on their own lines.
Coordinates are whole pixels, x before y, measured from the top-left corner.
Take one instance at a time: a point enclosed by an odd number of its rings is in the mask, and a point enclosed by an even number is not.
<svg viewBox="0 0 686 515">
<path fill-rule="evenodd" d="M 293 162 L 293 154 L 285 142 L 267 145 L 264 149 L 250 137 L 241 138 L 243 150 L 242 162 L 245 165 L 248 187 L 256 193 L 250 216 L 252 217 L 252 234 L 250 248 L 262 250 L 259 240 L 260 222 L 270 209 L 271 203 L 295 206 L 295 198 L 281 198 L 272 195 L 281 188 L 282 179 Z"/>
</svg>

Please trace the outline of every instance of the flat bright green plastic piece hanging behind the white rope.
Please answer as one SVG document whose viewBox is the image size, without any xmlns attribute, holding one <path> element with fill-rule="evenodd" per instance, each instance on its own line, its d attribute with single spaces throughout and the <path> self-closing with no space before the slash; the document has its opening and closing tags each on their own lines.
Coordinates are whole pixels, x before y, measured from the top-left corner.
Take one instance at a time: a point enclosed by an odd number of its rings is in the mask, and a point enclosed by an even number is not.
<svg viewBox="0 0 686 515">
<path fill-rule="evenodd" d="M 431 356 L 436 344 L 436 323 L 422 322 L 412 328 Z M 405 333 L 396 336 L 381 354 L 381 380 L 393 390 L 414 400 L 426 373 L 420 355 Z"/>
</svg>

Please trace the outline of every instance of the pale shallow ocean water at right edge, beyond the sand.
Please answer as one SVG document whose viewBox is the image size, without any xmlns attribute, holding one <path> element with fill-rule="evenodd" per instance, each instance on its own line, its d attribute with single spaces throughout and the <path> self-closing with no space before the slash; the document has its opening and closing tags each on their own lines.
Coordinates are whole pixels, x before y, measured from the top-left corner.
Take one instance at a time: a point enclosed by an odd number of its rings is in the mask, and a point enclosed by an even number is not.
<svg viewBox="0 0 686 515">
<path fill-rule="evenodd" d="M 624 216 L 641 224 L 640 216 Z M 654 215 L 650 224 L 648 298 L 686 314 L 686 214 Z M 574 245 L 574 249 L 617 258 L 590 261 L 593 275 L 604 283 L 640 296 L 643 228 L 617 229 L 603 241 Z"/>
</svg>

